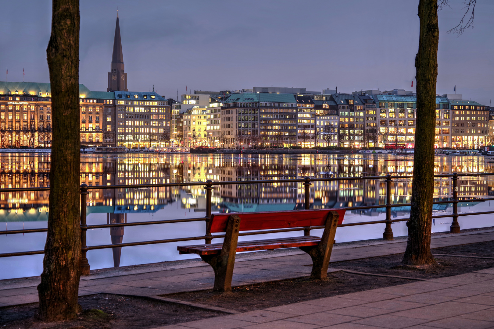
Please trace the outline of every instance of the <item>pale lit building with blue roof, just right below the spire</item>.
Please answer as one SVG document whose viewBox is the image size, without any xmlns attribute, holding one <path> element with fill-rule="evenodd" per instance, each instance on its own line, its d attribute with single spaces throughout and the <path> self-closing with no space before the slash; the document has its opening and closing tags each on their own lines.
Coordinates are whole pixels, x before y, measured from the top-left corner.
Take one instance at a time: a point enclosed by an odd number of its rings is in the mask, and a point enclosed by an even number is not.
<svg viewBox="0 0 494 329">
<path fill-rule="evenodd" d="M 156 92 L 114 92 L 119 146 L 164 147 L 170 139 L 171 110 Z"/>
</svg>

